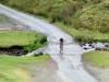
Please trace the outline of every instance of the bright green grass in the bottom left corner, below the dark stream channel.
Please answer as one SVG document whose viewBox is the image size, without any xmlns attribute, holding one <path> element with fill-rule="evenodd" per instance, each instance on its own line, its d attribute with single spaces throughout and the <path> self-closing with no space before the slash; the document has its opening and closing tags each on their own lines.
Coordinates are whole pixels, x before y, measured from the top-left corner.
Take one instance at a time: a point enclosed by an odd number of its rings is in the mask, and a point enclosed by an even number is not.
<svg viewBox="0 0 109 82">
<path fill-rule="evenodd" d="M 17 65 L 40 63 L 49 59 L 48 55 L 38 57 L 0 56 L 0 82 L 31 82 L 29 71 L 26 67 Z"/>
</svg>

